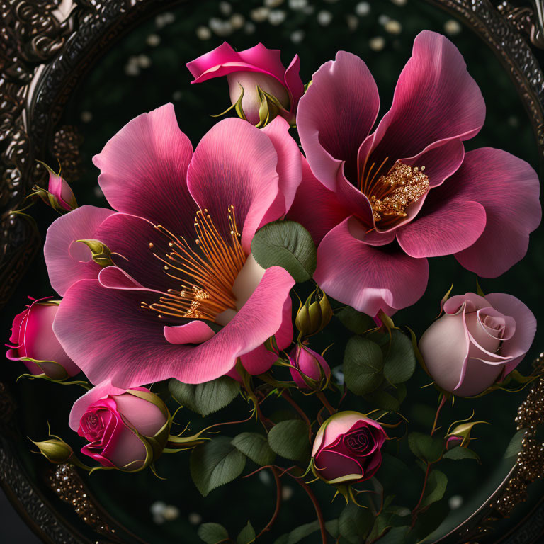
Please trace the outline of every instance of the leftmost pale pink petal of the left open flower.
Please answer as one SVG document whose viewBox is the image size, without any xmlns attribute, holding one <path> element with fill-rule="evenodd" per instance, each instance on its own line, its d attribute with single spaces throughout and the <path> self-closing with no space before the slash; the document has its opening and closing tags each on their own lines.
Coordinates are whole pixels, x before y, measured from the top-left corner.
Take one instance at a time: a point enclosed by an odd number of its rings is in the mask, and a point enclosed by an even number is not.
<svg viewBox="0 0 544 544">
<path fill-rule="evenodd" d="M 43 254 L 50 283 L 59 295 L 64 295 L 77 280 L 98 276 L 101 267 L 91 261 L 91 251 L 75 241 L 94 238 L 111 214 L 111 210 L 85 205 L 62 215 L 47 229 Z"/>
</svg>

